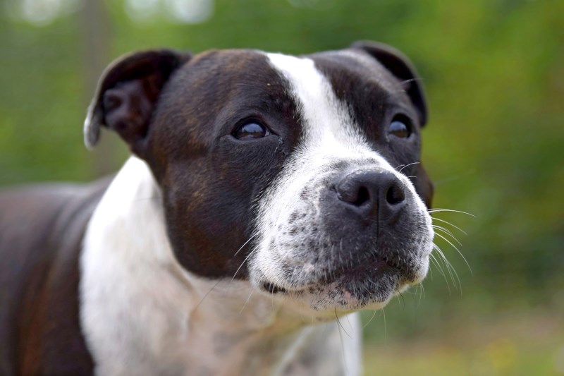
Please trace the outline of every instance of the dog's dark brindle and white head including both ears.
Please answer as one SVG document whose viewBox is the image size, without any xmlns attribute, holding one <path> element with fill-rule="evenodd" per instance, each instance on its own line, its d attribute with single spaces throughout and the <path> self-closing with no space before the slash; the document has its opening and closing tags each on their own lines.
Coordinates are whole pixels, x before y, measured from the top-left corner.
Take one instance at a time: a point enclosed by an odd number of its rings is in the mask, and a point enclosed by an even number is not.
<svg viewBox="0 0 564 376">
<path fill-rule="evenodd" d="M 335 313 L 427 274 L 426 116 L 410 64 L 379 44 L 148 51 L 106 70 L 86 137 L 108 126 L 147 161 L 185 269 Z"/>
</svg>

